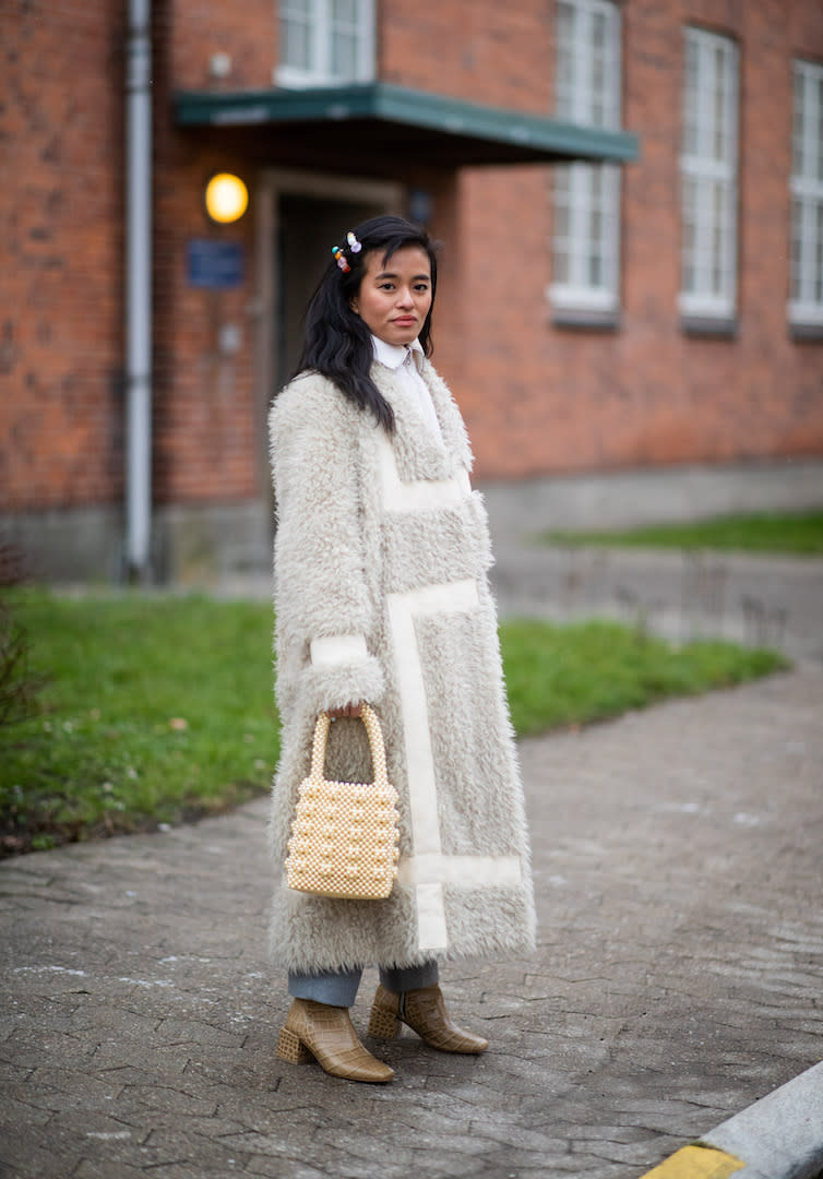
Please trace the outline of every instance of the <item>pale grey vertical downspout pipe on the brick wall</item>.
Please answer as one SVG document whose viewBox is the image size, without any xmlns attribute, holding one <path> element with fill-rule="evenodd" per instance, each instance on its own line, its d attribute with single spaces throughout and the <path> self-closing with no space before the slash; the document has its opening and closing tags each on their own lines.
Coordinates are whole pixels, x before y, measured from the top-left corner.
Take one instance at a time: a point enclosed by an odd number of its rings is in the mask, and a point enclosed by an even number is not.
<svg viewBox="0 0 823 1179">
<path fill-rule="evenodd" d="M 151 0 L 129 0 L 126 37 L 126 577 L 151 579 Z"/>
</svg>

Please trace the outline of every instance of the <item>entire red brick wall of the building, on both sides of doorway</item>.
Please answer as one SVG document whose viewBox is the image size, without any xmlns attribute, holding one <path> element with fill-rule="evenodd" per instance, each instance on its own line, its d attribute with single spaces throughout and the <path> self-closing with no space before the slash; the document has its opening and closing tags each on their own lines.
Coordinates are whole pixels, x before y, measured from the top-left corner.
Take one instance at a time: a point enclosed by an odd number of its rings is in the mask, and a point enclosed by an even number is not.
<svg viewBox="0 0 823 1179">
<path fill-rule="evenodd" d="M 123 494 L 123 42 L 125 0 L 6 0 L 0 186 L 1 508 Z M 554 0 L 381 0 L 380 77 L 447 95 L 552 110 Z M 176 88 L 271 85 L 274 0 L 156 0 L 154 493 L 159 502 L 259 495 L 254 187 L 288 164 L 259 137 L 180 133 Z M 551 171 L 456 180 L 410 165 L 445 241 L 436 361 L 463 406 L 482 477 L 823 454 L 823 344 L 785 325 L 790 64 L 823 60 L 817 0 L 625 0 L 624 125 L 640 137 L 623 183 L 620 324 L 553 327 Z M 738 335 L 683 334 L 679 173 L 683 25 L 740 44 Z M 216 52 L 230 77 L 210 79 Z M 318 160 L 318 166 L 323 162 Z M 217 167 L 252 186 L 235 228 L 209 225 Z M 191 288 L 185 245 L 236 241 L 246 281 Z M 217 355 L 220 324 L 239 329 Z M 257 441 L 256 441 L 257 440 Z"/>
</svg>

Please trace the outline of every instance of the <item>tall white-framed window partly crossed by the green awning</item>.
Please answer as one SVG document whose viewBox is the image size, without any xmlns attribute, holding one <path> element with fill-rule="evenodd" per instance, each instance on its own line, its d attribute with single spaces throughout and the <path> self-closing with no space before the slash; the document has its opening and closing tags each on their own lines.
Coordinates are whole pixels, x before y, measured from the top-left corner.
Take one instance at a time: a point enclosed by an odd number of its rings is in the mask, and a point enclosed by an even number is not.
<svg viewBox="0 0 823 1179">
<path fill-rule="evenodd" d="M 620 127 L 620 12 L 611 0 L 559 0 L 555 114 Z M 554 177 L 551 303 L 615 311 L 620 288 L 620 169 L 560 164 Z"/>
</svg>

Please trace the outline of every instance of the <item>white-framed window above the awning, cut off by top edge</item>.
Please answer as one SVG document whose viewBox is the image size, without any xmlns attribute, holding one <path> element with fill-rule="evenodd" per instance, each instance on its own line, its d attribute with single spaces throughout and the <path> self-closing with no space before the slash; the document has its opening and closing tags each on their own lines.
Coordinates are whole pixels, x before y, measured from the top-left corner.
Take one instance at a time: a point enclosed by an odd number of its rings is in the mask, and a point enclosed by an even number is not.
<svg viewBox="0 0 823 1179">
<path fill-rule="evenodd" d="M 279 0 L 278 86 L 333 86 L 375 75 L 375 0 Z"/>
</svg>

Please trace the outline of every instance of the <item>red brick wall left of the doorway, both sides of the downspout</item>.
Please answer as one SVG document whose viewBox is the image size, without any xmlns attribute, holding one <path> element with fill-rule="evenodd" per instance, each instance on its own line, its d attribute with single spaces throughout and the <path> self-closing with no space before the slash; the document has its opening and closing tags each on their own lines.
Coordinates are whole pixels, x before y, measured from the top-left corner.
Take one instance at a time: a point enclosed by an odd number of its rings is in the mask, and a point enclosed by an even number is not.
<svg viewBox="0 0 823 1179">
<path fill-rule="evenodd" d="M 123 498 L 124 101 L 126 4 L 6 4 L 0 185 L 0 511 L 118 502 Z M 226 502 L 258 486 L 252 434 L 254 206 L 236 228 L 210 225 L 209 176 L 255 171 L 225 150 L 178 134 L 175 88 L 208 88 L 223 51 L 223 85 L 265 87 L 277 59 L 272 0 L 153 5 L 154 499 Z M 211 81 L 213 85 L 213 81 Z M 187 285 L 189 238 L 239 241 L 246 279 L 215 294 Z M 217 356 L 220 324 L 242 348 Z"/>
</svg>

